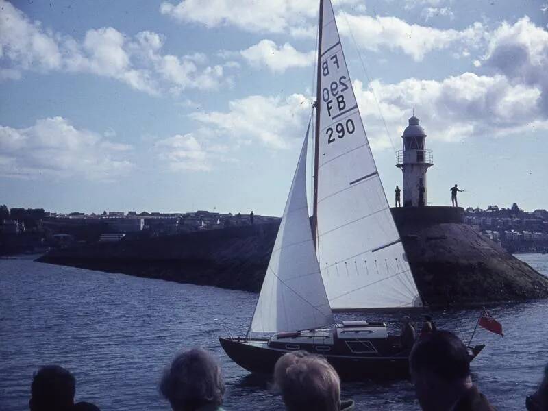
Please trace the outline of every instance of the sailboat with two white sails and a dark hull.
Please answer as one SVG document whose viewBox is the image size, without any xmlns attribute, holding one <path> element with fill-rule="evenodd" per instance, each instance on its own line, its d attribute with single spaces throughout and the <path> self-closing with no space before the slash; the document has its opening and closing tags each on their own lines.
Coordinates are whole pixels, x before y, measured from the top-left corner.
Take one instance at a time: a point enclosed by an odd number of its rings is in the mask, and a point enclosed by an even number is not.
<svg viewBox="0 0 548 411">
<path fill-rule="evenodd" d="M 316 90 L 312 223 L 311 117 L 248 332 L 219 342 L 253 373 L 271 373 L 284 353 L 306 350 L 345 379 L 406 376 L 409 347 L 386 323 L 336 323 L 333 314 L 421 308 L 423 301 L 369 147 L 331 0 L 320 1 Z M 471 358 L 481 348 L 470 349 Z"/>
</svg>

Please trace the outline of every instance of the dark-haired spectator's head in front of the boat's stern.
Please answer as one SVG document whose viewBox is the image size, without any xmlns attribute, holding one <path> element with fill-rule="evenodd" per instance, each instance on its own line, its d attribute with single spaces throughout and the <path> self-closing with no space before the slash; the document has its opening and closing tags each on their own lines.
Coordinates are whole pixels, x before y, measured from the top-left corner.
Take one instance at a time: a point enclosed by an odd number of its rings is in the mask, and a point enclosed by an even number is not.
<svg viewBox="0 0 548 411">
<path fill-rule="evenodd" d="M 409 365 L 423 410 L 493 410 L 472 383 L 468 350 L 455 334 L 426 334 L 411 350 Z"/>
</svg>

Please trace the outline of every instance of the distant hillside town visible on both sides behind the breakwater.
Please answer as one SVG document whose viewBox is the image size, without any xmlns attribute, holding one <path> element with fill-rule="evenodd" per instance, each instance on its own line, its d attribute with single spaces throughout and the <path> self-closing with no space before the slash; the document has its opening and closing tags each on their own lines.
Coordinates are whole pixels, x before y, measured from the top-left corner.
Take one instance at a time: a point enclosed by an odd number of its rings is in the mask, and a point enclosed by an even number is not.
<svg viewBox="0 0 548 411">
<path fill-rule="evenodd" d="M 0 253 L 42 253 L 76 243 L 118 242 L 130 238 L 171 236 L 279 221 L 279 217 L 249 213 L 162 213 L 104 211 L 99 214 L 47 212 L 42 208 L 0 206 Z M 465 223 L 511 253 L 548 251 L 548 211 L 510 208 L 466 208 Z"/>
</svg>

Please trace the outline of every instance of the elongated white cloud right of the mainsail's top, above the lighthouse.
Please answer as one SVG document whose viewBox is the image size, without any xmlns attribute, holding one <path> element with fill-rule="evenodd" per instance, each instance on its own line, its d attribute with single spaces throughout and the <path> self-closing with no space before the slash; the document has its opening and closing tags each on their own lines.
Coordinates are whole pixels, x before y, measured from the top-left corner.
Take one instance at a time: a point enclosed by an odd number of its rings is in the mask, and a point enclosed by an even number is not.
<svg viewBox="0 0 548 411">
<path fill-rule="evenodd" d="M 397 17 L 338 15 L 340 34 L 353 34 L 360 47 L 378 51 L 380 47 L 399 49 L 415 61 L 434 50 L 450 46 L 478 47 L 484 40 L 485 29 L 482 23 L 458 31 L 435 29 L 433 27 L 409 24 Z"/>
</svg>

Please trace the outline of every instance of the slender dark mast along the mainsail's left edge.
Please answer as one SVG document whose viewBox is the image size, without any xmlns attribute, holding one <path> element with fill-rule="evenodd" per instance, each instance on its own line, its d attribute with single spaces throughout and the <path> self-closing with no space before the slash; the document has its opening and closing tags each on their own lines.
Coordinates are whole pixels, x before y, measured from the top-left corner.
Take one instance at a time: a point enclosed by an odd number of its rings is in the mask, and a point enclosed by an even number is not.
<svg viewBox="0 0 548 411">
<path fill-rule="evenodd" d="M 320 159 L 320 107 L 321 107 L 321 36 L 323 31 L 323 0 L 320 0 L 320 18 L 318 27 L 318 64 L 316 71 L 316 122 L 314 130 L 314 203 L 312 206 L 312 240 L 318 251 L 318 168 Z"/>
</svg>

